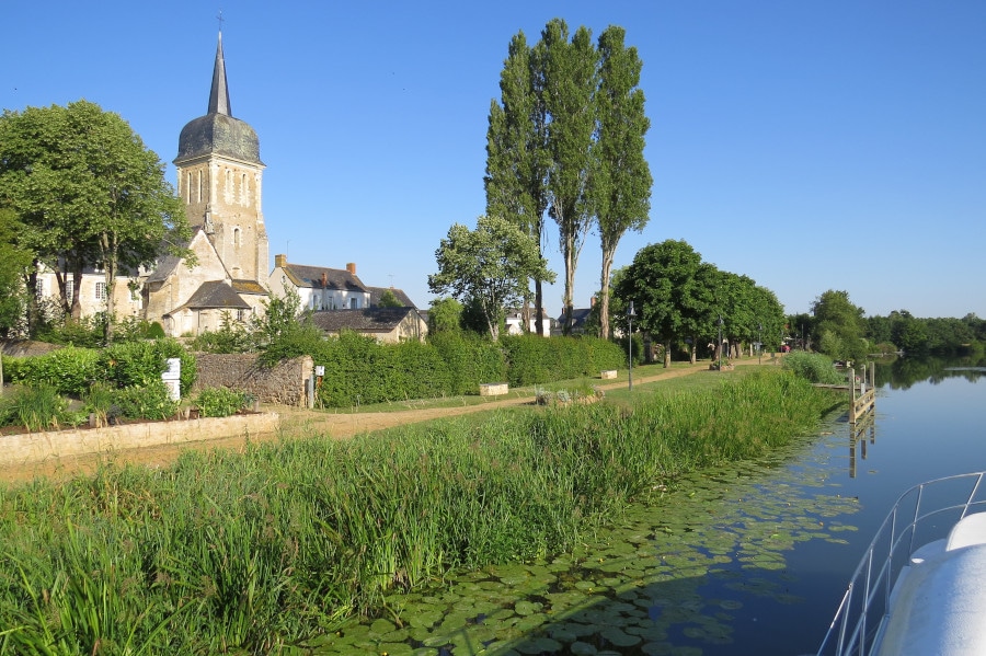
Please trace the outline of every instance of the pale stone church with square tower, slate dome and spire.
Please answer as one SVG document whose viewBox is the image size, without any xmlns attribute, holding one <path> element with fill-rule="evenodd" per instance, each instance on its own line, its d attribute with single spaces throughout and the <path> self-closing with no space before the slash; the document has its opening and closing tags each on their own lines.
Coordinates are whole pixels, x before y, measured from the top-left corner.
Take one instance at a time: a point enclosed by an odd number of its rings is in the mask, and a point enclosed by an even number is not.
<svg viewBox="0 0 986 656">
<path fill-rule="evenodd" d="M 197 335 L 263 312 L 268 245 L 262 209 L 260 139 L 233 117 L 222 35 L 216 47 L 208 111 L 182 128 L 176 192 L 185 204 L 196 264 L 164 257 L 144 281 L 145 318 L 169 335 Z"/>
</svg>

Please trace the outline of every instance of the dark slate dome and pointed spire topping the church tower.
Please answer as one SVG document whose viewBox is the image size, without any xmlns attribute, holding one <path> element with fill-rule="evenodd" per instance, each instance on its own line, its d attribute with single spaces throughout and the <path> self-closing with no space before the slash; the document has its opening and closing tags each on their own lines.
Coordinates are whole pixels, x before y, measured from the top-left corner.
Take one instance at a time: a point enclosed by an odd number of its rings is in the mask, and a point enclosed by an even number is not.
<svg viewBox="0 0 986 656">
<path fill-rule="evenodd" d="M 220 154 L 263 165 L 260 159 L 260 139 L 257 139 L 256 133 L 246 123 L 233 118 L 230 110 L 221 33 L 216 47 L 216 62 L 213 67 L 208 113 L 191 120 L 182 128 L 179 137 L 179 153 L 174 163 L 177 164 L 206 154 Z"/>
</svg>

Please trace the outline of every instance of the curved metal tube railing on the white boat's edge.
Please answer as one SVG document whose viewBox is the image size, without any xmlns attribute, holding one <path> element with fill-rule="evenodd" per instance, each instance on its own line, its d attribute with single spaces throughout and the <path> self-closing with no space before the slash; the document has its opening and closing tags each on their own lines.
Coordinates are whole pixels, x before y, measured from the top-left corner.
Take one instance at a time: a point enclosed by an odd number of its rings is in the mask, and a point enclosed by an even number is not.
<svg viewBox="0 0 986 656">
<path fill-rule="evenodd" d="M 868 656 L 886 620 L 901 571 L 966 515 L 986 511 L 986 472 L 936 479 L 901 495 L 849 579 L 818 656 Z"/>
</svg>

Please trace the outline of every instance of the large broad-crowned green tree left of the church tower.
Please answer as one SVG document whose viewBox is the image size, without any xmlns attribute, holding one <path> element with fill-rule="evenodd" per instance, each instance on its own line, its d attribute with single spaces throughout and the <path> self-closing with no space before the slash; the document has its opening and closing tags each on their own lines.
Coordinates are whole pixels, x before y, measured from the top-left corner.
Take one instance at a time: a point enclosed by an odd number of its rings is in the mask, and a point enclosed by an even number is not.
<svg viewBox="0 0 986 656">
<path fill-rule="evenodd" d="M 87 101 L 4 112 L 0 198 L 24 225 L 23 248 L 55 272 L 73 318 L 83 267 L 102 267 L 107 342 L 116 277 L 136 275 L 165 253 L 191 255 L 184 249 L 191 227 L 164 164 L 119 115 Z M 72 299 L 65 298 L 68 275 Z M 27 284 L 34 292 L 33 275 Z"/>
</svg>

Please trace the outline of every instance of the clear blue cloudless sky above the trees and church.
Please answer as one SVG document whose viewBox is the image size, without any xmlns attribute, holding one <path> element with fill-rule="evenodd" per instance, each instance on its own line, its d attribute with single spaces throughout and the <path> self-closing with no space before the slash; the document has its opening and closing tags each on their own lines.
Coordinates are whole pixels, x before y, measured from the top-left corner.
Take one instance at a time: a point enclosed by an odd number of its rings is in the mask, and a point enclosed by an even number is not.
<svg viewBox="0 0 986 656">
<path fill-rule="evenodd" d="M 267 165 L 272 260 L 353 262 L 426 308 L 439 240 L 484 211 L 507 44 L 562 18 L 624 27 L 644 62 L 651 220 L 617 266 L 684 239 L 789 313 L 836 289 L 869 315 L 986 318 L 982 0 L 16 1 L 0 11 L 0 107 L 98 103 L 174 183 L 220 5 L 232 114 Z M 553 228 L 549 250 L 561 280 Z M 576 307 L 600 262 L 591 237 Z M 561 298 L 546 290 L 552 315 Z"/>
</svg>

